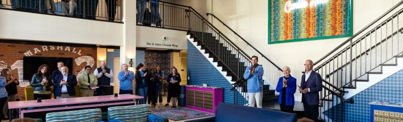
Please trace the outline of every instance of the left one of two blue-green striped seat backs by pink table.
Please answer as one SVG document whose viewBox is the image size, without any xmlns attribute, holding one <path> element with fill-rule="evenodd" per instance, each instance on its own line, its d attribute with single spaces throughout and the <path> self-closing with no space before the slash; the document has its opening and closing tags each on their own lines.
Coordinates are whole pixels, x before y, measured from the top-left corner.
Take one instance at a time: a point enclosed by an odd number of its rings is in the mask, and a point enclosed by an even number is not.
<svg viewBox="0 0 403 122">
<path fill-rule="evenodd" d="M 100 121 L 100 120 L 101 120 L 101 110 L 99 108 L 53 112 L 53 113 L 46 114 L 47 122 L 58 122 L 58 121 L 92 122 L 92 121 Z"/>
</svg>

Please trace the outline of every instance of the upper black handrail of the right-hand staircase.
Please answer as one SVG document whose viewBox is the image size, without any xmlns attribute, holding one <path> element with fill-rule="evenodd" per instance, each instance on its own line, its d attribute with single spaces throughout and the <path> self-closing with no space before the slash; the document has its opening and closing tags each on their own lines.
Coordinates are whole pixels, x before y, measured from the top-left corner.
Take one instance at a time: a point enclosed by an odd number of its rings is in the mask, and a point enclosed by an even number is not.
<svg viewBox="0 0 403 122">
<path fill-rule="evenodd" d="M 348 38 L 346 41 L 344 41 L 343 43 L 341 43 L 339 46 L 337 46 L 335 49 L 333 49 L 332 51 L 330 51 L 328 54 L 324 55 L 322 58 L 320 58 L 318 61 L 316 61 L 313 65 L 317 65 L 318 63 L 320 63 L 324 58 L 330 56 L 331 54 L 333 54 L 335 51 L 337 51 L 339 48 L 341 48 L 342 46 L 344 46 L 345 44 L 347 44 L 348 42 L 350 42 L 350 40 L 352 40 L 353 38 L 357 37 L 358 35 L 360 35 L 361 33 L 363 33 L 366 29 L 368 29 L 370 26 L 372 26 L 373 24 L 375 24 L 377 21 L 379 21 L 381 18 L 385 17 L 386 15 L 388 15 L 390 12 L 392 12 L 394 9 L 396 9 L 398 6 L 400 6 L 401 4 L 403 4 L 403 1 L 400 1 L 398 4 L 396 4 L 395 6 L 393 6 L 391 9 L 389 9 L 388 11 L 386 11 L 384 14 L 382 14 L 380 17 L 376 18 L 374 21 L 372 21 L 371 23 L 369 23 L 367 26 L 365 26 L 364 28 L 362 28 L 359 32 L 357 32 L 356 34 L 352 35 L 350 38 Z"/>
</svg>

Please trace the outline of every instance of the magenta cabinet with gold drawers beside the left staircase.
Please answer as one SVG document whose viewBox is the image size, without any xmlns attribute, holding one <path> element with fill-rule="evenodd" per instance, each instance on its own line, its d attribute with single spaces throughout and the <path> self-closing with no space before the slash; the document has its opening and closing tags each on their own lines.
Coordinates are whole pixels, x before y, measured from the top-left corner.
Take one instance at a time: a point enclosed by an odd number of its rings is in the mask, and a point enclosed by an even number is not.
<svg viewBox="0 0 403 122">
<path fill-rule="evenodd" d="M 214 113 L 223 101 L 223 89 L 214 86 L 186 85 L 186 107 Z"/>
</svg>

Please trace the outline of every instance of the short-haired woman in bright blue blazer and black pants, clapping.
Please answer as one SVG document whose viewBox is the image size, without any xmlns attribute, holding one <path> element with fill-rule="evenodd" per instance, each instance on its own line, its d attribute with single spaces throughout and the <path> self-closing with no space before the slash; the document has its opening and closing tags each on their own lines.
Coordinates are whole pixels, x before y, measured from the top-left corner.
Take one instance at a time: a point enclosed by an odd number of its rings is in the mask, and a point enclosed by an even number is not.
<svg viewBox="0 0 403 122">
<path fill-rule="evenodd" d="M 291 113 L 294 110 L 294 94 L 297 79 L 290 75 L 290 68 L 287 66 L 283 68 L 283 73 L 284 76 L 280 77 L 275 91 L 280 92 L 279 104 L 281 111 Z"/>
</svg>

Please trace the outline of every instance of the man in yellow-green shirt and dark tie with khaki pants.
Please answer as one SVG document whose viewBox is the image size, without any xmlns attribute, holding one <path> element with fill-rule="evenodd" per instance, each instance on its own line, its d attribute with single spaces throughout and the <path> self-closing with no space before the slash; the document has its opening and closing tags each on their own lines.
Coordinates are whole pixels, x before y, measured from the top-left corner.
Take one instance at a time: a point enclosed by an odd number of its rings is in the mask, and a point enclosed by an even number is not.
<svg viewBox="0 0 403 122">
<path fill-rule="evenodd" d="M 94 88 L 98 84 L 98 79 L 91 73 L 92 68 L 90 66 L 85 66 L 85 72 L 77 76 L 80 82 L 80 96 L 81 97 L 91 97 L 94 96 Z"/>
</svg>

